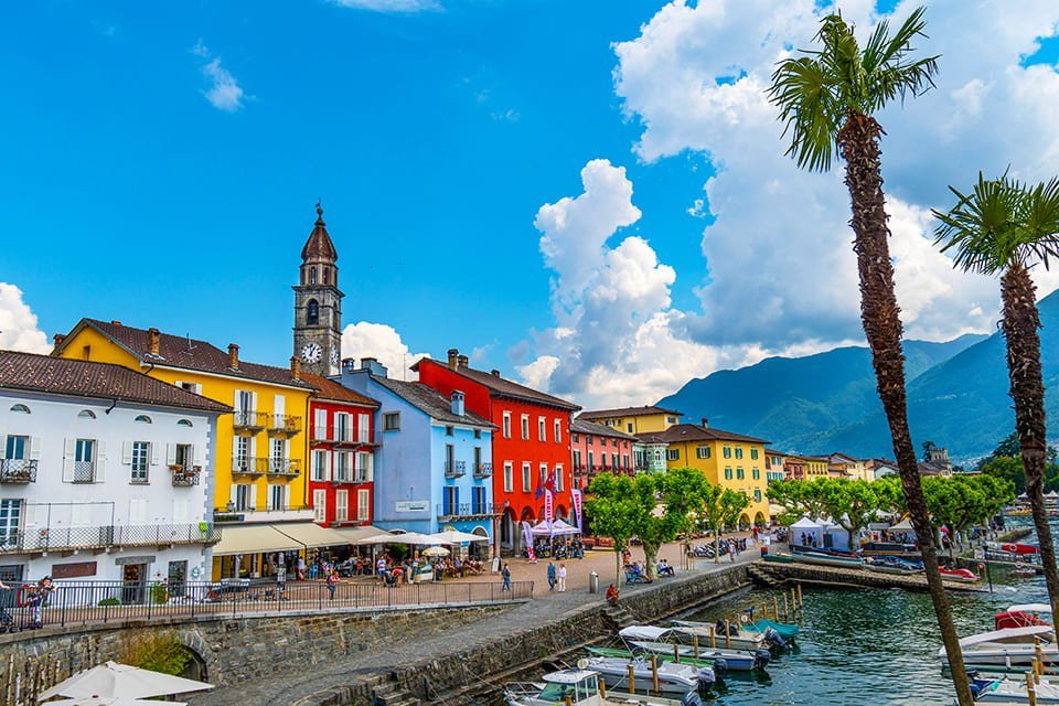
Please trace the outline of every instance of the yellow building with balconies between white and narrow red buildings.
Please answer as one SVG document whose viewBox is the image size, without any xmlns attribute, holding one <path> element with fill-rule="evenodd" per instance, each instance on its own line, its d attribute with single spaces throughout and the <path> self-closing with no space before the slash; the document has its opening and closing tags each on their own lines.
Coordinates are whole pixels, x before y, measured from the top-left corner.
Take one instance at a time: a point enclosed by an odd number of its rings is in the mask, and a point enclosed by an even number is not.
<svg viewBox="0 0 1059 706">
<path fill-rule="evenodd" d="M 92 319 L 82 319 L 69 334 L 56 336 L 53 354 L 116 363 L 231 405 L 235 413 L 217 420 L 213 449 L 215 520 L 232 523 L 226 526 L 243 522 L 311 524 L 304 424 L 314 388 L 300 379 L 297 359 L 291 360 L 290 368 L 247 363 L 239 360 L 235 344 L 224 352 L 205 341 L 158 329 Z M 313 546 L 303 541 L 287 550 L 307 545 Z M 243 568 L 257 574 L 264 567 Z"/>
</svg>

